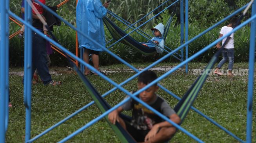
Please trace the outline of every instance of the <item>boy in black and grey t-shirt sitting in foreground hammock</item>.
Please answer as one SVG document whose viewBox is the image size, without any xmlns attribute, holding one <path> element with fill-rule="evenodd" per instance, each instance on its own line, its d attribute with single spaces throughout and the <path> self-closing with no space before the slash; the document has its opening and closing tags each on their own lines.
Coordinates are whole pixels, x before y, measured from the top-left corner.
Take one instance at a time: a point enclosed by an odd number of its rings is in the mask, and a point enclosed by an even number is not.
<svg viewBox="0 0 256 143">
<path fill-rule="evenodd" d="M 138 77 L 138 89 L 147 86 L 147 84 L 156 78 L 156 73 L 153 71 L 144 71 Z M 157 89 L 158 86 L 154 84 L 140 93 L 137 97 L 163 115 L 169 117 L 173 122 L 180 123 L 180 117 L 162 97 L 159 97 L 155 93 Z M 133 110 L 132 121 L 130 123 L 125 122 L 118 116 L 123 110 Z M 109 113 L 108 118 L 113 124 L 115 124 L 116 121 L 119 122 L 137 142 L 158 143 L 166 141 L 176 132 L 176 128 L 169 122 L 164 121 L 153 111 L 147 109 L 133 99 Z"/>
</svg>

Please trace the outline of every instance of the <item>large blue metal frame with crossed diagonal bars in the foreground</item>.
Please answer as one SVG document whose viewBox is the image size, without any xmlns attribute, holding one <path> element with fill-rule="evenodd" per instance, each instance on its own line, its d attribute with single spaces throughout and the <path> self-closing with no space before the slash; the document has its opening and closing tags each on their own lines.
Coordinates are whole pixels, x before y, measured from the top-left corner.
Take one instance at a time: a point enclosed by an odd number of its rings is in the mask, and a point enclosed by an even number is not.
<svg viewBox="0 0 256 143">
<path fill-rule="evenodd" d="M 37 1 L 37 0 L 36 0 Z M 5 3 L 6 2 L 6 3 Z M 40 2 L 39 2 L 40 3 Z M 81 59 L 79 59 L 78 57 L 76 57 L 74 54 L 72 54 L 71 52 L 69 52 L 67 49 L 65 49 L 63 46 L 61 46 L 60 44 L 56 43 L 55 41 L 53 41 L 52 39 L 45 37 L 43 33 L 41 33 L 40 31 L 38 31 L 37 29 L 35 29 L 33 26 L 31 26 L 29 20 L 31 20 L 31 17 L 26 16 L 27 19 L 26 21 L 21 20 L 20 18 L 18 18 L 18 16 L 16 16 L 15 14 L 13 14 L 11 11 L 9 11 L 9 9 L 7 9 L 7 7 L 9 7 L 9 0 L 2 0 L 0 3 L 0 12 L 2 14 L 5 15 L 5 19 L 4 22 L 2 21 L 2 15 L 1 15 L 1 28 L 6 28 L 8 27 L 8 14 L 15 17 L 16 19 L 24 22 L 24 24 L 26 25 L 26 29 L 32 29 L 35 32 L 38 32 L 38 34 L 40 36 L 42 36 L 42 38 L 47 39 L 48 41 L 52 42 L 54 45 L 60 47 L 61 50 L 63 50 L 64 52 L 66 52 L 67 54 L 71 55 L 71 57 L 74 57 L 74 59 L 78 60 L 80 63 L 84 64 L 85 66 L 87 66 L 90 70 L 96 72 L 98 75 L 100 75 L 103 79 L 107 80 L 108 82 L 110 82 L 111 84 L 113 84 L 116 88 L 111 89 L 110 91 L 113 92 L 113 90 L 115 89 L 120 89 L 121 91 L 123 91 L 124 93 L 126 93 L 127 95 L 129 95 L 129 98 L 134 98 L 134 100 L 137 100 L 138 102 L 140 102 L 142 105 L 144 105 L 145 107 L 147 107 L 148 109 L 151 109 L 154 113 L 158 114 L 161 118 L 163 118 L 164 120 L 166 120 L 169 123 L 172 123 L 175 127 L 177 127 L 178 129 L 180 129 L 182 132 L 184 132 L 185 134 L 187 134 L 188 136 L 190 136 L 191 138 L 195 139 L 198 142 L 202 142 L 200 139 L 196 138 L 194 135 L 192 135 L 191 133 L 187 132 L 185 129 L 183 129 L 182 127 L 180 127 L 179 125 L 176 125 L 175 123 L 173 123 L 171 120 L 169 120 L 168 118 L 166 118 L 165 116 L 163 116 L 161 113 L 155 111 L 154 109 L 152 109 L 152 107 L 150 107 L 149 105 L 145 104 L 144 102 L 142 102 L 141 100 L 139 100 L 137 97 L 135 97 L 135 95 L 137 95 L 138 93 L 142 92 L 143 90 L 149 88 L 150 86 L 152 86 L 153 84 L 155 84 L 156 82 L 162 80 L 163 78 L 167 77 L 168 75 L 170 75 L 172 72 L 174 72 L 175 70 L 177 70 L 178 68 L 184 66 L 185 64 L 187 64 L 188 62 L 190 62 L 192 59 L 194 59 L 195 57 L 197 57 L 198 55 L 202 54 L 203 52 L 205 52 L 206 50 L 208 50 L 209 48 L 211 48 L 212 46 L 216 45 L 216 43 L 220 42 L 222 39 L 224 39 L 226 36 L 223 36 L 220 39 L 217 39 L 216 41 L 214 41 L 213 43 L 211 43 L 210 45 L 206 46 L 205 48 L 203 48 L 202 50 L 200 50 L 199 52 L 197 52 L 196 54 L 192 55 L 191 57 L 189 57 L 188 59 L 186 59 L 185 61 L 183 61 L 182 63 L 180 63 L 178 66 L 174 67 L 172 70 L 168 71 L 167 73 L 163 74 L 162 76 L 158 77 L 158 79 L 154 80 L 153 82 L 151 82 L 150 84 L 148 84 L 147 86 L 145 86 L 144 88 L 138 90 L 136 93 L 131 94 L 129 93 L 129 91 L 125 90 L 122 88 L 122 85 L 125 84 L 124 82 L 120 85 L 116 84 L 115 82 L 113 82 L 111 79 L 109 79 L 108 77 L 104 76 L 102 73 L 100 73 L 99 71 L 97 71 L 96 69 L 94 69 L 92 66 L 90 66 L 89 64 L 85 63 L 84 61 L 82 61 Z M 44 6 L 44 5 L 43 5 Z M 245 26 L 246 24 L 248 24 L 249 22 L 251 22 L 252 20 L 252 27 L 251 28 L 251 43 L 250 43 L 250 59 L 249 59 L 249 81 L 248 81 L 248 110 L 247 110 L 247 142 L 250 143 L 251 142 L 251 126 L 252 126 L 252 89 L 253 89 L 253 69 L 254 69 L 254 46 L 255 46 L 255 22 L 256 22 L 256 13 L 255 13 L 255 2 L 253 3 L 253 9 L 252 9 L 252 16 L 251 18 L 249 18 L 248 20 L 244 21 L 243 23 L 241 23 L 241 25 L 239 25 L 238 27 L 236 27 L 235 29 L 233 29 L 229 34 L 235 32 L 236 30 L 240 29 L 241 27 Z M 3 8 L 4 7 L 4 8 Z M 239 10 L 237 10 L 236 12 L 234 12 L 233 14 L 231 14 L 230 16 L 227 16 L 227 18 L 224 18 L 222 21 L 216 23 L 214 26 L 210 27 L 209 29 L 205 30 L 204 32 L 202 32 L 201 34 L 199 34 L 198 36 L 192 38 L 191 40 L 185 42 L 184 44 L 182 44 L 181 46 L 179 46 L 178 48 L 176 48 L 175 50 L 173 50 L 172 52 L 170 52 L 169 54 L 163 56 L 161 59 L 159 59 L 158 61 L 154 62 L 153 64 L 151 64 L 150 66 L 148 66 L 146 69 L 149 69 L 153 66 L 155 66 L 156 64 L 160 63 L 161 61 L 163 61 L 164 59 L 166 59 L 167 57 L 169 57 L 171 54 L 174 54 L 174 52 L 182 49 L 183 47 L 187 46 L 189 43 L 191 43 L 192 41 L 194 41 L 195 39 L 199 38 L 200 36 L 202 36 L 203 34 L 205 34 L 206 32 L 208 32 L 209 30 L 213 29 L 214 27 L 216 27 L 217 25 L 219 25 L 220 23 L 222 23 L 223 21 L 227 20 L 228 18 L 232 17 L 233 15 L 235 15 L 236 13 L 239 13 L 239 11 L 241 11 L 242 9 L 244 9 L 246 7 L 246 5 L 242 8 L 240 8 Z M 45 8 L 45 7 L 44 7 Z M 45 9 L 47 9 L 48 7 L 46 7 Z M 28 7 L 25 6 L 25 9 L 28 10 Z M 8 14 L 6 13 L 6 10 Z M 47 9 L 49 10 L 49 8 Z M 49 10 L 50 11 L 50 10 Z M 51 11 L 52 12 L 52 11 Z M 27 14 L 29 14 L 28 12 L 26 12 Z M 31 16 L 31 15 L 30 15 Z M 55 15 L 57 16 L 57 15 Z M 60 18 L 61 20 L 63 20 L 62 18 Z M 66 23 L 67 25 L 69 25 L 71 28 L 77 30 L 76 28 L 73 27 L 73 25 L 71 25 L 70 23 L 68 23 L 67 21 L 64 20 L 64 23 Z M 142 26 L 142 25 L 141 25 Z M 139 27 L 137 27 L 138 29 Z M 8 29 L 7 29 L 8 30 Z M 1 39 L 8 39 L 7 37 L 7 31 L 6 29 L 3 31 L 1 30 Z M 134 29 L 136 30 L 136 29 Z M 27 31 L 28 34 L 25 35 L 25 39 L 29 39 L 31 38 L 31 32 Z M 80 32 L 80 31 L 78 31 Z M 30 33 L 30 34 L 29 34 Z M 82 34 L 82 32 L 80 32 Z M 129 33 L 130 34 L 130 33 Z M 229 35 L 227 34 L 227 35 Z M 84 34 L 82 34 L 83 36 L 85 36 Z M 128 34 L 127 34 L 128 35 Z M 97 46 L 102 47 L 101 45 L 99 45 L 98 43 L 96 43 L 93 39 L 91 39 L 88 36 L 85 36 L 86 38 L 90 39 L 94 44 L 96 44 Z M 7 44 L 6 44 L 7 41 Z M 8 49 L 7 47 L 8 45 L 8 40 L 2 40 L 1 42 L 1 49 L 0 49 L 0 115 L 4 115 L 4 119 L 3 116 L 1 116 L 2 118 L 0 118 L 0 127 L 2 127 L 2 125 L 4 125 L 6 123 L 5 120 L 5 111 L 6 111 L 6 98 L 4 95 L 6 95 L 6 93 L 8 93 L 8 79 L 2 78 L 3 75 L 8 74 L 8 70 L 9 70 L 9 65 L 6 65 L 6 57 L 4 54 L 7 54 L 8 52 L 6 52 L 6 49 Z M 26 107 L 26 117 L 29 117 L 28 121 L 26 119 L 26 137 L 25 137 L 25 141 L 26 142 L 31 142 L 31 140 L 27 140 L 27 138 L 30 138 L 30 119 L 31 116 L 29 115 L 29 113 L 31 114 L 31 77 L 29 77 L 29 71 L 30 71 L 30 75 L 31 75 L 31 42 L 29 44 L 28 40 L 25 40 L 25 47 L 27 48 L 28 51 L 25 52 L 25 67 L 24 69 L 27 69 L 27 71 L 25 71 L 25 74 L 27 76 L 25 76 L 25 80 L 24 80 L 24 104 Z M 6 48 L 6 49 L 4 49 Z M 120 57 L 116 56 L 115 54 L 113 54 L 112 52 L 110 52 L 109 50 L 107 50 L 105 47 L 102 47 L 106 52 L 108 52 L 109 54 L 113 55 L 113 57 L 115 57 L 116 59 L 120 60 L 122 63 L 127 64 L 127 66 L 129 66 L 130 68 L 132 68 L 133 70 L 137 71 L 138 70 L 136 68 L 134 68 L 133 66 L 131 66 L 129 63 L 125 62 L 123 59 L 121 59 Z M 30 52 L 29 52 L 30 50 Z M 7 59 L 8 60 L 8 59 Z M 3 66 L 4 65 L 4 66 Z M 2 68 L 4 67 L 4 68 Z M 145 69 L 145 70 L 146 70 Z M 143 70 L 143 71 L 145 71 Z M 136 73 L 134 76 L 132 76 L 131 78 L 127 79 L 127 80 L 131 80 L 134 79 L 135 77 L 137 77 L 140 73 L 142 73 L 143 71 L 140 71 L 138 73 Z M 5 76 L 7 77 L 7 76 Z M 250 78 L 251 77 L 251 78 Z M 251 80 L 250 80 L 251 79 Z M 126 80 L 126 81 L 127 81 Z M 30 84 L 28 84 L 30 82 Z M 4 83 L 4 84 L 3 84 Z M 26 86 L 27 85 L 27 86 Z M 159 85 L 159 84 L 158 84 Z M 25 87 L 26 86 L 26 87 Z M 30 87 L 29 87 L 30 86 Z M 160 85 L 159 85 L 160 86 Z M 249 88 L 251 87 L 251 88 Z M 162 86 L 160 86 L 160 88 L 162 88 L 164 91 L 166 91 L 167 93 L 171 94 L 170 91 L 168 91 L 167 89 L 163 88 Z M 107 93 L 111 93 L 110 91 L 108 91 Z M 27 94 L 25 94 L 25 92 Z M 105 93 L 106 94 L 106 93 Z M 104 95 L 105 95 L 104 94 Z M 127 98 L 127 100 L 129 100 L 129 98 Z M 5 102 L 3 102 L 3 100 Z M 114 109 L 116 109 L 117 107 L 119 107 L 120 105 L 124 104 L 127 100 L 124 100 L 122 102 L 120 102 L 119 104 L 117 104 L 116 106 L 114 106 L 113 108 L 109 109 L 107 112 L 101 114 L 100 116 L 98 116 L 97 118 L 95 118 L 94 120 L 92 120 L 91 122 L 87 123 L 84 127 L 80 128 L 79 130 L 77 130 L 76 132 L 74 132 L 73 134 L 67 136 L 66 138 L 64 138 L 62 141 L 60 142 L 65 142 L 68 139 L 72 138 L 73 136 L 75 136 L 75 134 L 78 134 L 79 132 L 81 132 L 82 130 L 86 129 L 87 127 L 89 127 L 90 125 L 93 125 L 93 123 L 97 122 L 98 120 L 100 120 L 101 118 L 103 118 L 105 115 L 107 115 L 109 112 L 113 111 Z M 91 102 L 92 103 L 92 102 Z M 87 106 L 88 107 L 88 106 Z M 194 107 L 192 107 L 194 108 Z M 29 112 L 30 111 L 30 112 Z M 195 110 L 196 111 L 196 110 Z M 78 112 L 78 111 L 77 111 Z M 28 116 L 27 116 L 28 114 Z M 67 117 L 69 118 L 69 117 Z M 4 123 L 4 124 L 1 124 Z M 28 125 L 29 123 L 29 125 Z M 213 121 L 214 123 L 214 121 Z M 6 124 L 4 128 L 0 128 L 0 142 L 4 142 L 5 140 L 5 130 L 2 129 L 6 129 Z M 27 130 L 27 126 L 29 126 L 29 130 Z M 218 126 L 219 127 L 219 126 Z M 225 131 L 225 130 L 224 130 Z M 229 131 L 225 131 L 227 133 L 229 133 Z M 3 133 L 3 134 L 2 134 Z M 231 134 L 232 136 L 232 134 Z M 234 137 L 234 136 L 233 136 Z M 234 137 L 237 139 L 237 137 Z M 1 140 L 2 139 L 2 140 Z M 238 138 L 238 141 L 243 142 L 241 139 Z"/>
</svg>

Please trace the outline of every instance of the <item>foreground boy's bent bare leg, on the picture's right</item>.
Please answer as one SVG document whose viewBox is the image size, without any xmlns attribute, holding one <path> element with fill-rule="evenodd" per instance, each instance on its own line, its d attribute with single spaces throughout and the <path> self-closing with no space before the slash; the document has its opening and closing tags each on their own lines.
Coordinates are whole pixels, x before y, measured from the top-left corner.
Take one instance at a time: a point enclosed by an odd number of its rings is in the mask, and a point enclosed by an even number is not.
<svg viewBox="0 0 256 143">
<path fill-rule="evenodd" d="M 163 127 L 159 130 L 159 132 L 156 134 L 155 138 L 153 138 L 151 142 L 147 141 L 145 143 L 162 143 L 163 141 L 167 141 L 169 138 L 171 138 L 175 132 L 175 127 Z"/>
</svg>

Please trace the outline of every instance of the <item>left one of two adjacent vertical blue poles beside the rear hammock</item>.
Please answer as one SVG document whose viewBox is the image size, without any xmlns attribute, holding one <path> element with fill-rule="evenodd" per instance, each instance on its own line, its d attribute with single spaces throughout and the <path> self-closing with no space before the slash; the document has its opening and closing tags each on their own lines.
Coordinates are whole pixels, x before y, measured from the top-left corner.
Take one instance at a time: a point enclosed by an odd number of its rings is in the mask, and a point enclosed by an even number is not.
<svg viewBox="0 0 256 143">
<path fill-rule="evenodd" d="M 184 42 L 184 5 L 183 0 L 180 0 L 180 45 Z M 182 61 L 184 60 L 183 48 L 180 50 L 182 57 L 180 58 Z"/>
</svg>

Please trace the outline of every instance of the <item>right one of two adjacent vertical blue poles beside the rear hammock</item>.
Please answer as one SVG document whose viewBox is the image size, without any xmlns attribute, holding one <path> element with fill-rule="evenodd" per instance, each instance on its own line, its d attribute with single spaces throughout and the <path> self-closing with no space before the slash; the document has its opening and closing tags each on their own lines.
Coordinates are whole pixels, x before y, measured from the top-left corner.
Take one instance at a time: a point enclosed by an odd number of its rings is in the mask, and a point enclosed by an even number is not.
<svg viewBox="0 0 256 143">
<path fill-rule="evenodd" d="M 185 43 L 189 41 L 189 0 L 185 1 Z M 189 45 L 186 45 L 186 59 L 189 57 Z M 186 64 L 186 73 L 189 72 L 189 64 Z"/>
</svg>

